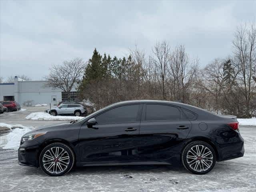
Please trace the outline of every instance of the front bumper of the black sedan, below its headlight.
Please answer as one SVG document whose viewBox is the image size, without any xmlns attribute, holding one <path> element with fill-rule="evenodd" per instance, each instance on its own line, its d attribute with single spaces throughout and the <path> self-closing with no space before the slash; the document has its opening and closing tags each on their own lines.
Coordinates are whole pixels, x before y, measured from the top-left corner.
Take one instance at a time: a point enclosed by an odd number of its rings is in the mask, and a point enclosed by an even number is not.
<svg viewBox="0 0 256 192">
<path fill-rule="evenodd" d="M 21 143 L 18 149 L 19 164 L 24 166 L 39 167 L 38 152 L 39 143 L 36 142 L 36 140 Z"/>
</svg>

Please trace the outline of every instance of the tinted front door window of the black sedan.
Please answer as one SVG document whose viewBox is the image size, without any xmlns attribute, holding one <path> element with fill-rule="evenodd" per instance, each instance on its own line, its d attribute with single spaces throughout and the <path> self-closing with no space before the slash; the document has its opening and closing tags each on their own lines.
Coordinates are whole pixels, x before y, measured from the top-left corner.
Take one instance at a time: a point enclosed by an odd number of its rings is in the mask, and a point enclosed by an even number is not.
<svg viewBox="0 0 256 192">
<path fill-rule="evenodd" d="M 96 117 L 98 123 L 134 122 L 137 119 L 139 105 L 117 107 Z"/>
</svg>

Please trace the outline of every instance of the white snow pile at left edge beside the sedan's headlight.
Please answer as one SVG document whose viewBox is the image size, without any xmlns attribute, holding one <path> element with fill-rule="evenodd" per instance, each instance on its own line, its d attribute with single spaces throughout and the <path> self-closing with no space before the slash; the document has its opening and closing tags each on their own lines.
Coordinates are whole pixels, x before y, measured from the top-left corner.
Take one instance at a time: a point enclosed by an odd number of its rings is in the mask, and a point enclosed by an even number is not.
<svg viewBox="0 0 256 192">
<path fill-rule="evenodd" d="M 0 147 L 2 147 L 3 149 L 18 149 L 20 146 L 21 137 L 33 129 L 22 125 L 10 125 L 1 123 L 0 126 L 2 125 L 13 129 L 12 132 L 0 136 Z"/>
</svg>

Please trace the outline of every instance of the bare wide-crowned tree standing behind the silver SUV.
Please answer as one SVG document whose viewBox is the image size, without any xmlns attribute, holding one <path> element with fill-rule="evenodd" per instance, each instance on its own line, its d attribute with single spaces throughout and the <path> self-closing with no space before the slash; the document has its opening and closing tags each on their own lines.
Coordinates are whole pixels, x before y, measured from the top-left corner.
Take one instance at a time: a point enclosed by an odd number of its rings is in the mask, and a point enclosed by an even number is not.
<svg viewBox="0 0 256 192">
<path fill-rule="evenodd" d="M 73 86 L 82 78 L 86 63 L 82 58 L 64 61 L 61 65 L 53 65 L 50 74 L 46 77 L 48 81 L 44 86 L 59 88 L 66 92 L 68 100 Z"/>
</svg>

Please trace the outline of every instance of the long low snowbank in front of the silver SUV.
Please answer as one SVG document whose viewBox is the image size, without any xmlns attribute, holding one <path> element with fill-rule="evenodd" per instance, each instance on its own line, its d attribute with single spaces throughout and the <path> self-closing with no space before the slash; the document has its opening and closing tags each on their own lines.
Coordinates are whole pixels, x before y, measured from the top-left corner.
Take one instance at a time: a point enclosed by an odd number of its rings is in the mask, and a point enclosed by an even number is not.
<svg viewBox="0 0 256 192">
<path fill-rule="evenodd" d="M 72 121 L 72 120 L 80 120 L 84 117 L 77 117 L 77 116 L 52 116 L 45 112 L 35 112 L 30 113 L 26 116 L 25 119 L 30 120 L 60 120 L 60 121 Z"/>
</svg>

